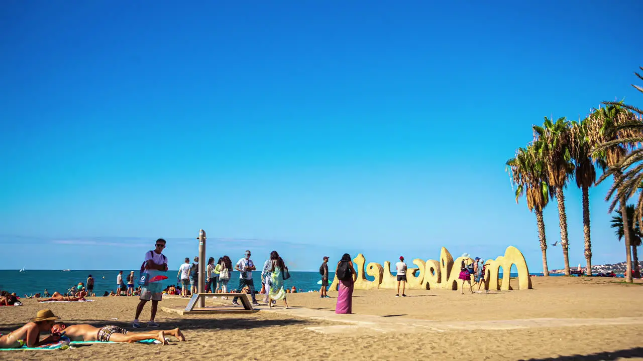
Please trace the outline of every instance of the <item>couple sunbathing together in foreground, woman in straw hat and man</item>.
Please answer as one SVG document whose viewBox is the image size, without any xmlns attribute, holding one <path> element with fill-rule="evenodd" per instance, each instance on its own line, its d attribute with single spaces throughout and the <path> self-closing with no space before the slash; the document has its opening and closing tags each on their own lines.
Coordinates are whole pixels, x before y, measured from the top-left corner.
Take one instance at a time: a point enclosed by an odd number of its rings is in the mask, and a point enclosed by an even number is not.
<svg viewBox="0 0 643 361">
<path fill-rule="evenodd" d="M 99 342 L 137 342 L 142 340 L 158 340 L 168 344 L 166 336 L 185 341 L 185 336 L 179 328 L 172 330 L 156 330 L 152 332 L 132 332 L 119 326 L 108 324 L 100 328 L 91 324 L 66 324 L 56 322 L 60 317 L 51 310 L 40 310 L 36 317 L 21 328 L 3 335 L 0 333 L 0 348 L 36 348 L 60 342 L 62 337 L 69 341 L 99 341 Z M 41 340 L 41 333 L 51 333 Z"/>
</svg>

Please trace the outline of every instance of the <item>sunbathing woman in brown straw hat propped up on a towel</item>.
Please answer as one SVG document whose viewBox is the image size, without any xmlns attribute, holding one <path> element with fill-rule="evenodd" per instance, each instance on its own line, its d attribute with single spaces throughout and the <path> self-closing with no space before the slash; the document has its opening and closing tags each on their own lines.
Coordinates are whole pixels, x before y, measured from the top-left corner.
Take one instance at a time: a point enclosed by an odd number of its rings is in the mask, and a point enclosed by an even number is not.
<svg viewBox="0 0 643 361">
<path fill-rule="evenodd" d="M 57 319 L 60 317 L 54 315 L 50 310 L 40 310 L 36 313 L 36 317 L 31 319 L 32 322 L 7 335 L 0 333 L 0 348 L 21 348 L 23 346 L 34 348 L 57 342 L 60 335 L 51 335 L 44 340 L 40 339 L 40 333 L 50 330 Z"/>
</svg>

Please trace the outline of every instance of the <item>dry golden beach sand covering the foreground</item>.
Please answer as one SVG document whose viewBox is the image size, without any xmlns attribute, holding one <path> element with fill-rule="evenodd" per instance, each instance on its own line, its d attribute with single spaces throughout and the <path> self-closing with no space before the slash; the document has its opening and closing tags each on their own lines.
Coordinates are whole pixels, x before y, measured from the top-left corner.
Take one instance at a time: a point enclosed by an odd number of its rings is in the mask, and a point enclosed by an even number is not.
<svg viewBox="0 0 643 361">
<path fill-rule="evenodd" d="M 399 298 L 393 290 L 358 290 L 354 315 L 335 315 L 336 299 L 314 293 L 289 295 L 291 310 L 251 315 L 178 317 L 159 310 L 161 328 L 182 328 L 187 342 L 2 351 L 0 360 L 643 360 L 641 283 L 586 277 L 537 277 L 533 283 L 534 290 L 410 290 L 410 297 Z M 95 300 L 1 307 L 0 332 L 21 326 L 41 308 L 68 322 L 132 330 L 136 298 Z M 147 317 L 149 306 L 141 321 Z"/>
</svg>

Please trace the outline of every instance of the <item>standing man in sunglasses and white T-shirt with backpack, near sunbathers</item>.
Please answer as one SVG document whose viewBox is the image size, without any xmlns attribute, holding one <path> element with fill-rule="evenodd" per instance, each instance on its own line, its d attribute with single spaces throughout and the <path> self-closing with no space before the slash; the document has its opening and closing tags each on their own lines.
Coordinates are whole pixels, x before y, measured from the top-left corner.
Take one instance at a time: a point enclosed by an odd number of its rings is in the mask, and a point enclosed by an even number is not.
<svg viewBox="0 0 643 361">
<path fill-rule="evenodd" d="M 145 261 L 143 261 L 143 265 L 141 265 L 141 270 L 147 270 L 150 278 L 167 271 L 167 257 L 162 253 L 164 248 L 165 240 L 159 238 L 156 240 L 156 249 L 145 253 Z M 159 324 L 154 322 L 154 317 L 156 317 L 156 309 L 162 297 L 163 283 L 161 283 L 161 281 L 150 282 L 147 286 L 143 286 L 139 297 L 141 301 L 139 301 L 138 306 L 136 306 L 136 317 L 134 317 L 132 327 L 141 327 L 141 324 L 138 322 L 138 316 L 141 314 L 141 311 L 143 311 L 143 306 L 145 306 L 147 301 L 152 301 L 152 315 L 150 316 L 150 322 L 147 322 L 147 326 L 158 327 Z"/>
</svg>

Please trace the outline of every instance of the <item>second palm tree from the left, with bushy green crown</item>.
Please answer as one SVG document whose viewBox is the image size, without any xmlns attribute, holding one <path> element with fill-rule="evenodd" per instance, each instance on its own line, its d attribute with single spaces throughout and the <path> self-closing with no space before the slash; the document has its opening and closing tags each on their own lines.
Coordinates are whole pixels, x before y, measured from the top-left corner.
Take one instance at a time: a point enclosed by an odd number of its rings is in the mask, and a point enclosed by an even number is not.
<svg viewBox="0 0 643 361">
<path fill-rule="evenodd" d="M 565 195 L 563 188 L 574 172 L 572 163 L 570 124 L 563 118 L 558 118 L 554 123 L 545 117 L 542 127 L 534 125 L 534 146 L 543 159 L 547 171 L 549 186 L 554 190 L 558 202 L 558 220 L 561 227 L 561 247 L 565 259 L 565 274 L 569 272 L 569 239 L 567 236 L 567 215 L 565 213 Z"/>
</svg>

